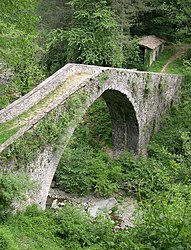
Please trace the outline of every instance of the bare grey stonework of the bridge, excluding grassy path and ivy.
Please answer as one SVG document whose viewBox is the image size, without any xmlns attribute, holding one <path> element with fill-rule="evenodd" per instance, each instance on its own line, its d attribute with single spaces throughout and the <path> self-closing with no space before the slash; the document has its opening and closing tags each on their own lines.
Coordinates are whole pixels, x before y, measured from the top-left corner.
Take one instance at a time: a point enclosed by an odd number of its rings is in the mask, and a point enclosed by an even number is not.
<svg viewBox="0 0 191 250">
<path fill-rule="evenodd" d="M 71 120 L 66 124 L 65 134 L 63 132 L 60 134 L 56 142 L 56 150 L 53 145 L 47 144 L 46 147 L 39 150 L 36 158 L 25 168 L 30 178 L 39 184 L 39 190 L 34 192 L 33 198 L 28 201 L 29 204 L 36 203 L 41 208 L 45 208 L 49 187 L 64 153 L 64 148 L 79 121 L 97 98 L 103 96 L 109 106 L 116 154 L 125 148 L 133 150 L 137 154 L 144 154 L 153 132 L 160 127 L 163 114 L 177 96 L 182 81 L 182 77 L 178 75 L 86 65 L 66 65 L 43 82 L 41 86 L 2 110 L 1 123 L 26 110 L 26 103 L 28 103 L 27 108 L 33 106 L 55 88 L 52 85 L 59 85 L 69 75 L 80 72 L 91 73 L 91 76 L 76 83 L 75 86 L 71 86 L 71 89 L 64 93 L 62 98 L 54 100 L 45 111 L 38 113 L 0 146 L 0 153 L 3 153 L 27 131 L 35 132 L 38 125 L 42 124 L 46 116 L 52 112 L 56 112 L 60 117 L 60 113 L 66 112 L 66 103 L 71 98 L 77 97 L 79 93 L 83 94 L 84 101 L 75 106 L 75 115 L 71 116 Z M 18 107 L 20 108 L 18 109 Z M 62 121 L 58 119 L 57 122 L 59 126 L 59 122 Z M 4 166 L 1 166 L 1 169 L 3 168 Z"/>
</svg>

